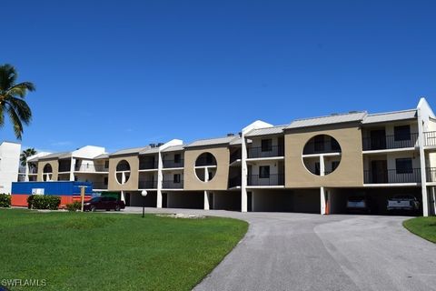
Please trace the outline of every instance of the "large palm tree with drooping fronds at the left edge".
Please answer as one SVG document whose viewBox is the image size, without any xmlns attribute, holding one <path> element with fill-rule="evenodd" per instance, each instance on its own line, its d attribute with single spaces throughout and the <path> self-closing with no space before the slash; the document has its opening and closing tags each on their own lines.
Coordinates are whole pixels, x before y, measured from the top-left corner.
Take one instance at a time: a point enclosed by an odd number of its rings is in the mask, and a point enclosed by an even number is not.
<svg viewBox="0 0 436 291">
<path fill-rule="evenodd" d="M 35 91 L 31 82 L 16 84 L 18 74 L 12 65 L 0 65 L 0 128 L 5 125 L 5 114 L 9 115 L 17 139 L 23 135 L 23 124 L 29 125 L 32 111 L 25 103 L 28 91 Z"/>
</svg>

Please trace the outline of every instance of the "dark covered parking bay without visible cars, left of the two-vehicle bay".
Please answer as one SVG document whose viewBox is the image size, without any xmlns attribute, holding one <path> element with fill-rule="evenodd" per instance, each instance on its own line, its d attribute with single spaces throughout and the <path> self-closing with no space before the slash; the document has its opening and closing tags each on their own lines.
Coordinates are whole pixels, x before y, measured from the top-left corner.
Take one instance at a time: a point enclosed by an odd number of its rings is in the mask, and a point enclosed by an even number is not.
<svg viewBox="0 0 436 291">
<path fill-rule="evenodd" d="M 257 188 L 248 191 L 249 211 L 321 213 L 319 189 Z"/>
</svg>

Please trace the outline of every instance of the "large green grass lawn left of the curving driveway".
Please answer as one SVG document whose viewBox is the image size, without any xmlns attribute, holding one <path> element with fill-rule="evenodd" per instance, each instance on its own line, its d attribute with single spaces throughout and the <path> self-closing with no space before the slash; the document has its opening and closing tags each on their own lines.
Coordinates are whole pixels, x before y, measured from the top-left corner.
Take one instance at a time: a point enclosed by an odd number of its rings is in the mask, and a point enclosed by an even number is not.
<svg viewBox="0 0 436 291">
<path fill-rule="evenodd" d="M 0 282 L 45 279 L 44 290 L 190 290 L 247 227 L 218 217 L 0 209 Z"/>
</svg>

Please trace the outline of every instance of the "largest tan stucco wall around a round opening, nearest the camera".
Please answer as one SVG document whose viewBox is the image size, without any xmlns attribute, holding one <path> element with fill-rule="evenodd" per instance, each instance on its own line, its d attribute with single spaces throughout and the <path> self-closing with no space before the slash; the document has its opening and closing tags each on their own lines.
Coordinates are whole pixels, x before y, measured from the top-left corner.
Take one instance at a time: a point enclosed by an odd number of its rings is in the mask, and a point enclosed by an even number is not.
<svg viewBox="0 0 436 291">
<path fill-rule="evenodd" d="M 302 149 L 315 135 L 332 135 L 342 149 L 341 163 L 327 176 L 315 176 L 302 162 Z M 362 133 L 357 125 L 325 125 L 285 133 L 285 187 L 363 186 Z"/>
</svg>

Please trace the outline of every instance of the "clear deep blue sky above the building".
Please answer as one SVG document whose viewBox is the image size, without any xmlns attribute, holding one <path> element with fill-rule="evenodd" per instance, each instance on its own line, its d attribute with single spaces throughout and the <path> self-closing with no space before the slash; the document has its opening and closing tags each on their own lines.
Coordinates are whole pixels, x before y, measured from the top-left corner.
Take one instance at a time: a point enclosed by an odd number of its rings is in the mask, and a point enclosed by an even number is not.
<svg viewBox="0 0 436 291">
<path fill-rule="evenodd" d="M 91 3 L 93 2 L 93 3 Z M 436 106 L 435 1 L 7 1 L 24 146 L 108 151 L 262 119 Z M 7 12 L 7 13 L 5 13 Z M 0 140 L 14 140 L 6 124 Z"/>
</svg>

